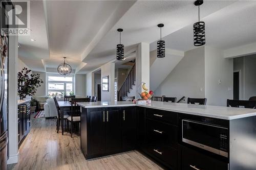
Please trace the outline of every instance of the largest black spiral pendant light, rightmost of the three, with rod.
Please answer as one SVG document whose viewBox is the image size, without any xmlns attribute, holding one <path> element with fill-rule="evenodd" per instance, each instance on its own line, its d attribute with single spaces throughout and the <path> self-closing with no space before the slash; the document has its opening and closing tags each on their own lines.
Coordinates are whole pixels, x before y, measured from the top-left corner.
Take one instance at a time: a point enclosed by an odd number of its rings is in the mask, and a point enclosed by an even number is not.
<svg viewBox="0 0 256 170">
<path fill-rule="evenodd" d="M 204 3 L 203 0 L 195 1 L 194 5 L 198 6 L 198 22 L 194 23 L 194 45 L 201 46 L 205 44 L 205 23 L 200 21 L 200 10 L 199 7 Z"/>
</svg>

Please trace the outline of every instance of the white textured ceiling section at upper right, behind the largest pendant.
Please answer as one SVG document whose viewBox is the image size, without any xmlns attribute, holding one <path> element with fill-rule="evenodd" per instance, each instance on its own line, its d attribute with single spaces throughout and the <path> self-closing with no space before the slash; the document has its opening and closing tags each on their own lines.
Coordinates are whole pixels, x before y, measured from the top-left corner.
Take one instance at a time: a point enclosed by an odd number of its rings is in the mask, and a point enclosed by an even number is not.
<svg viewBox="0 0 256 170">
<path fill-rule="evenodd" d="M 255 42 L 255 11 L 256 1 L 239 1 L 202 18 L 206 27 L 206 45 L 227 50 Z M 185 52 L 196 48 L 193 45 L 193 23 L 163 39 L 165 46 L 174 50 Z M 151 44 L 151 50 L 155 49 L 156 41 Z"/>
</svg>

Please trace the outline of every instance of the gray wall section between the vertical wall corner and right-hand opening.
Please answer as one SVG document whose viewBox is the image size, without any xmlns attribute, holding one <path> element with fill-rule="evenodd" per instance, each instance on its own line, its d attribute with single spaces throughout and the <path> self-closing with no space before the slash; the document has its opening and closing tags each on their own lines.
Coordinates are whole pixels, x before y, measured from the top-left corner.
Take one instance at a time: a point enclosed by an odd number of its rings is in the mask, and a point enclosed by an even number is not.
<svg viewBox="0 0 256 170">
<path fill-rule="evenodd" d="M 233 59 L 221 50 L 205 46 L 205 98 L 207 105 L 226 106 L 233 99 Z"/>
</svg>

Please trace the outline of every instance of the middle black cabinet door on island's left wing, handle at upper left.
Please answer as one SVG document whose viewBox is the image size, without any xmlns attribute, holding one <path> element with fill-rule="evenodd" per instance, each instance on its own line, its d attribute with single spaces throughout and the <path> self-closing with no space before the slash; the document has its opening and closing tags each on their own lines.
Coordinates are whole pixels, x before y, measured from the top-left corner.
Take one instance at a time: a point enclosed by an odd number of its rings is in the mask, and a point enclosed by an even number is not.
<svg viewBox="0 0 256 170">
<path fill-rule="evenodd" d="M 121 125 L 120 125 L 121 108 L 105 109 L 105 141 L 106 153 L 114 153 L 121 150 Z"/>
</svg>

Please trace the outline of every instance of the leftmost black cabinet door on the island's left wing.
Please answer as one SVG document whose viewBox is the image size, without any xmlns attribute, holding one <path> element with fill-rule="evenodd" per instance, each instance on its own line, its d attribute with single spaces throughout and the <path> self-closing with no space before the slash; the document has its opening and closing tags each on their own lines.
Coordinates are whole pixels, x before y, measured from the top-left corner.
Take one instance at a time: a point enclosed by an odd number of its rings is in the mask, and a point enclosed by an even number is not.
<svg viewBox="0 0 256 170">
<path fill-rule="evenodd" d="M 93 156 L 93 155 L 104 154 L 105 153 L 104 108 L 88 109 L 87 114 L 88 114 L 87 116 L 88 155 Z M 84 143 L 81 143 L 81 144 L 83 145 Z"/>
</svg>

